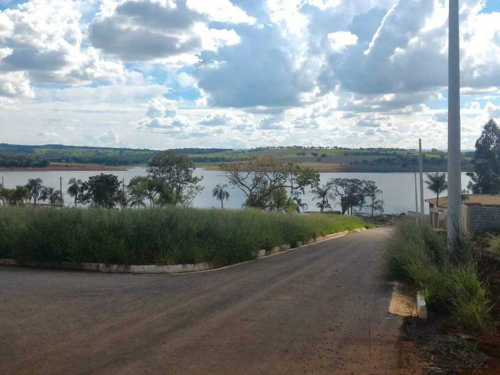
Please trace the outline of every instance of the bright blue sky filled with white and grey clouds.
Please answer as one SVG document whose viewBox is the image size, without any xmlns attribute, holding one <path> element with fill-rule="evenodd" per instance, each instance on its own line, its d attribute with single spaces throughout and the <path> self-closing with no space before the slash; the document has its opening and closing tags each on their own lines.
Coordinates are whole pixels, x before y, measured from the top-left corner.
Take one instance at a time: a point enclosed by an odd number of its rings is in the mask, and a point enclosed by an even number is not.
<svg viewBox="0 0 500 375">
<path fill-rule="evenodd" d="M 446 149 L 446 0 L 0 0 L 0 142 Z M 500 1 L 460 0 L 462 148 Z"/>
</svg>

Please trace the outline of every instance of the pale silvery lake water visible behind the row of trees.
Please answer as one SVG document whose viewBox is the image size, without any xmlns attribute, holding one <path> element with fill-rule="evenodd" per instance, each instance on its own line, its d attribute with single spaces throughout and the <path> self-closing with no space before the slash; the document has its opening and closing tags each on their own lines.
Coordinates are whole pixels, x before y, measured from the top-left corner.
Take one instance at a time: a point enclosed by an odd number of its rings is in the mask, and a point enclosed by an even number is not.
<svg viewBox="0 0 500 375">
<path fill-rule="evenodd" d="M 136 175 L 146 175 L 144 167 L 133 167 L 129 170 L 113 170 L 102 171 L 103 173 L 112 173 L 118 176 L 118 179 L 125 179 L 128 183 L 130 178 Z M 100 173 L 100 171 L 0 171 L 0 176 L 3 176 L 5 187 L 15 187 L 16 185 L 24 185 L 29 178 L 40 177 L 43 184 L 46 186 L 59 188 L 59 177 L 62 176 L 62 189 L 66 190 L 66 184 L 71 177 L 88 179 L 89 176 Z M 204 190 L 193 201 L 194 207 L 220 207 L 220 202 L 212 197 L 211 191 L 217 183 L 228 183 L 223 172 L 206 170 L 197 168 L 195 175 L 203 176 L 202 185 Z M 415 182 L 413 173 L 348 173 L 348 172 L 325 172 L 320 174 L 321 183 L 325 183 L 330 178 L 349 177 L 359 179 L 370 179 L 376 182 L 378 188 L 382 190 L 381 198 L 385 201 L 385 213 L 401 213 L 407 210 L 415 210 Z M 425 178 L 425 176 L 424 176 Z M 465 188 L 469 177 L 465 172 L 462 173 L 462 188 Z M 229 201 L 224 201 L 224 207 L 241 208 L 244 202 L 243 193 L 237 188 L 229 188 Z M 424 183 L 424 198 L 435 197 L 435 194 L 425 187 Z M 446 193 L 444 193 L 446 195 Z M 312 200 L 313 194 L 306 191 L 302 197 L 302 201 L 307 203 L 308 210 L 318 210 L 315 201 Z M 65 204 L 72 202 L 72 198 L 64 194 Z M 333 209 L 339 209 L 339 205 L 333 202 Z M 428 204 L 425 203 L 425 210 L 428 211 Z"/>
</svg>

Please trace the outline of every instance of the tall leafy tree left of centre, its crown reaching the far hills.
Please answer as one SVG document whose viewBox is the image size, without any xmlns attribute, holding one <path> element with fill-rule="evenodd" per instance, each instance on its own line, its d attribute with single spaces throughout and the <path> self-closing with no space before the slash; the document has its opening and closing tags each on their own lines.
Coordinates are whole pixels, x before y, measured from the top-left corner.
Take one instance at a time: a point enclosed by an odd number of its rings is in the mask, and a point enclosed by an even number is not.
<svg viewBox="0 0 500 375">
<path fill-rule="evenodd" d="M 171 191 L 172 203 L 184 206 L 189 205 L 203 189 L 199 184 L 203 177 L 194 176 L 195 169 L 187 155 L 172 151 L 156 153 L 147 164 L 147 172 L 169 186 L 163 186 L 163 191 Z"/>
</svg>

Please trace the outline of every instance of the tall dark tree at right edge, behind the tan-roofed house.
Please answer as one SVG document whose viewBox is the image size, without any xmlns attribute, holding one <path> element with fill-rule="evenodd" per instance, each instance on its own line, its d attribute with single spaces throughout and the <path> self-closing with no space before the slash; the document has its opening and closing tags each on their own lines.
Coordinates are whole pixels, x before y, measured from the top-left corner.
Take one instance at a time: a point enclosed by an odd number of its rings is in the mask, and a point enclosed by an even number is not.
<svg viewBox="0 0 500 375">
<path fill-rule="evenodd" d="M 475 142 L 474 172 L 467 188 L 473 194 L 500 194 L 500 129 L 490 119 Z"/>
</svg>

